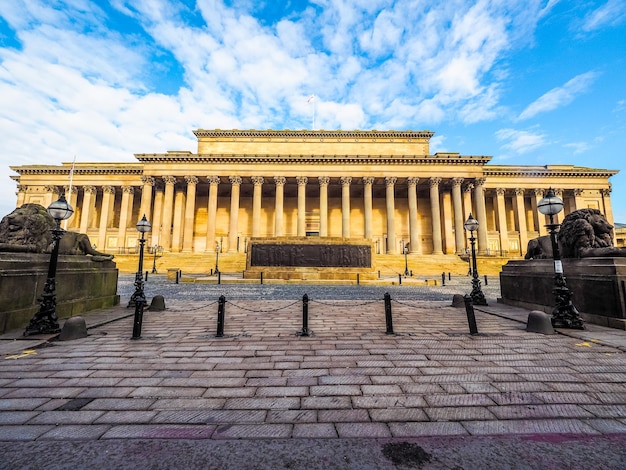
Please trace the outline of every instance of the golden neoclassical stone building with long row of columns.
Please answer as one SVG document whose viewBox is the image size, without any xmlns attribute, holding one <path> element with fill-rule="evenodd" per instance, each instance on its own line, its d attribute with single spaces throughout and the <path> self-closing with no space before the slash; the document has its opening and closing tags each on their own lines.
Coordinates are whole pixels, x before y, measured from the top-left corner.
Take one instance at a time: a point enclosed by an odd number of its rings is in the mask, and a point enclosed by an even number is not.
<svg viewBox="0 0 626 470">
<path fill-rule="evenodd" d="M 371 240 L 375 254 L 465 252 L 463 222 L 479 221 L 482 254 L 520 256 L 546 233 L 537 202 L 549 187 L 565 210 L 592 207 L 613 222 L 614 170 L 492 165 L 491 157 L 430 154 L 430 131 L 194 131 L 196 153 L 136 154 L 136 163 L 12 166 L 17 206 L 65 192 L 69 230 L 98 250 L 243 253 L 252 237 Z"/>
</svg>

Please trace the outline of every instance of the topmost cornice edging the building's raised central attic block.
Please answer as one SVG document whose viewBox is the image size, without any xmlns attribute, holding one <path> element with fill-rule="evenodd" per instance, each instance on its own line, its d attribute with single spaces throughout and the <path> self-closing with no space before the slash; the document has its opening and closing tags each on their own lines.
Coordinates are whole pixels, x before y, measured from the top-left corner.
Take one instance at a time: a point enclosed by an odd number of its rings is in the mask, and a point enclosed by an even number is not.
<svg viewBox="0 0 626 470">
<path fill-rule="evenodd" d="M 222 129 L 196 129 L 193 131 L 196 137 L 210 138 L 278 138 L 278 139 L 427 139 L 435 135 L 434 132 L 424 131 L 314 131 L 314 130 L 222 130 Z"/>
</svg>

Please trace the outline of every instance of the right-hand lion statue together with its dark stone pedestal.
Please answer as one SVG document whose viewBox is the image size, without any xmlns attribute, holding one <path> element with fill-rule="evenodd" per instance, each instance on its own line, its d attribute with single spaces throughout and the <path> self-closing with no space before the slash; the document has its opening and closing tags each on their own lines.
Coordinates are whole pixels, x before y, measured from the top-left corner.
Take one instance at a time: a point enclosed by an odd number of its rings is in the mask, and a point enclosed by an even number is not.
<svg viewBox="0 0 626 470">
<path fill-rule="evenodd" d="M 561 224 L 559 250 L 572 303 L 583 319 L 626 330 L 626 249 L 613 246 L 612 231 L 597 209 L 574 211 Z M 555 304 L 550 237 L 531 240 L 526 259 L 502 267 L 498 301 L 550 313 Z"/>
</svg>

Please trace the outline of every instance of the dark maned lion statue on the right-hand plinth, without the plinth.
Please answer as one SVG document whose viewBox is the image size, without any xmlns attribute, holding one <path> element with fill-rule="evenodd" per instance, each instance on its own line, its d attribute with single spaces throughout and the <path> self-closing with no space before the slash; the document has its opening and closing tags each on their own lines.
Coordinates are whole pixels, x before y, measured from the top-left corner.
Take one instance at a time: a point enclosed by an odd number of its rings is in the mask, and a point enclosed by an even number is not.
<svg viewBox="0 0 626 470">
<path fill-rule="evenodd" d="M 558 243 L 562 258 L 626 256 L 626 248 L 613 246 L 613 226 L 598 209 L 579 209 L 566 215 Z M 525 258 L 552 258 L 550 236 L 530 240 Z"/>
</svg>

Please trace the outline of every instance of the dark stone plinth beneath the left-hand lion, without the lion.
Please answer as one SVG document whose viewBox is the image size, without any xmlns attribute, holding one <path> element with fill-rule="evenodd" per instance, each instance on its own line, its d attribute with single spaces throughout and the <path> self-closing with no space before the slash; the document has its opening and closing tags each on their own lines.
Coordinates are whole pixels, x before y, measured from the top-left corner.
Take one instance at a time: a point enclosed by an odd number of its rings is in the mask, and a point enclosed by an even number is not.
<svg viewBox="0 0 626 470">
<path fill-rule="evenodd" d="M 25 328 L 39 309 L 50 255 L 0 253 L 0 332 Z M 57 315 L 69 318 L 119 304 L 118 271 L 113 261 L 90 256 L 59 256 Z"/>
</svg>

